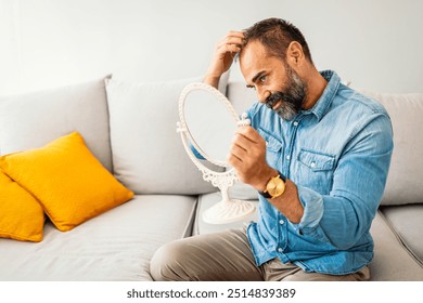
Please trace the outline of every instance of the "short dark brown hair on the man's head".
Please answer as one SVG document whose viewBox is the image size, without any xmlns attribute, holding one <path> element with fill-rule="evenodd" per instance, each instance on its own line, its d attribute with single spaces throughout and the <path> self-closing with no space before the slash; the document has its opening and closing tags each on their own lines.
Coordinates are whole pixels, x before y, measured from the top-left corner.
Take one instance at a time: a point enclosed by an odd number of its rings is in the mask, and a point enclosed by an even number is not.
<svg viewBox="0 0 423 303">
<path fill-rule="evenodd" d="M 312 64 L 310 50 L 303 34 L 293 24 L 281 18 L 267 18 L 244 29 L 244 45 L 258 40 L 267 51 L 277 57 L 286 60 L 286 49 L 292 41 L 297 41 L 306 58 Z"/>
</svg>

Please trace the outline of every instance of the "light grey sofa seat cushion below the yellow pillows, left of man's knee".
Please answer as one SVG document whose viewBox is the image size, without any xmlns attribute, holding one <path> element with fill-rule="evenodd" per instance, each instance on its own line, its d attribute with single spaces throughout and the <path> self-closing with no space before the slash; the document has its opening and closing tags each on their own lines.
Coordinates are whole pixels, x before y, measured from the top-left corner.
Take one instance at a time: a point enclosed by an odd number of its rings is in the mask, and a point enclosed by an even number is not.
<svg viewBox="0 0 423 303">
<path fill-rule="evenodd" d="M 39 243 L 0 239 L 0 280 L 151 280 L 150 259 L 191 233 L 195 198 L 136 196 L 70 232 L 47 222 Z"/>
</svg>

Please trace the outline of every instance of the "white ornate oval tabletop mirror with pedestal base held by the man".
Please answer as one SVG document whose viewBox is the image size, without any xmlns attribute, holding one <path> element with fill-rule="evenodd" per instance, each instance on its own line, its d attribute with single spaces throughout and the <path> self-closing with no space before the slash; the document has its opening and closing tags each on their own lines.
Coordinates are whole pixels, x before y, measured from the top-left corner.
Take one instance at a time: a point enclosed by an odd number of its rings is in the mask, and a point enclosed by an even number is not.
<svg viewBox="0 0 423 303">
<path fill-rule="evenodd" d="M 228 189 L 238 176 L 226 162 L 235 129 L 249 121 L 240 120 L 222 93 L 200 82 L 183 89 L 179 98 L 179 119 L 178 132 L 188 155 L 202 171 L 203 179 L 218 187 L 222 196 L 221 201 L 203 213 L 203 220 L 225 224 L 253 213 L 255 206 L 252 202 L 229 198 Z M 206 166 L 202 158 L 214 167 Z"/>
</svg>

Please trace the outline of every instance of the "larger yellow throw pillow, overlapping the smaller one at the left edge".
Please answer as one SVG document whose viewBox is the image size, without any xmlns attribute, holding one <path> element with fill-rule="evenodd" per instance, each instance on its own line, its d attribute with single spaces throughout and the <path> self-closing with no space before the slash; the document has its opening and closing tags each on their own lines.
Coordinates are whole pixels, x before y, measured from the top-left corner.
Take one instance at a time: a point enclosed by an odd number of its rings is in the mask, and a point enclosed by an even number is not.
<svg viewBox="0 0 423 303">
<path fill-rule="evenodd" d="M 44 147 L 7 155 L 0 168 L 31 193 L 62 232 L 133 197 L 74 132 Z"/>
</svg>

